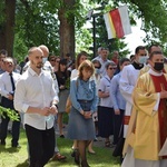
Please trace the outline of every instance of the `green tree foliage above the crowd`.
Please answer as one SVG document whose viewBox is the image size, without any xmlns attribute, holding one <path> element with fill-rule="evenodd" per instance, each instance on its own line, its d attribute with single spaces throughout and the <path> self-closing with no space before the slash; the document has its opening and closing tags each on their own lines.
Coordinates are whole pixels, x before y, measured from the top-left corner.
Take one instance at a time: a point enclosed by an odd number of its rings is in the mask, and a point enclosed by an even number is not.
<svg viewBox="0 0 167 167">
<path fill-rule="evenodd" d="M 7 21 L 3 12 L 6 0 L 0 1 L 0 30 L 2 30 L 2 26 Z M 145 41 L 147 43 L 159 42 L 166 51 L 166 0 L 17 0 L 14 57 L 21 60 L 24 58 L 28 48 L 41 43 L 48 46 L 51 53 L 61 55 L 62 46 L 67 45 L 66 39 L 61 39 L 66 27 L 61 27 L 61 33 L 59 29 L 58 12 L 61 9 L 63 9 L 63 19 L 68 20 L 69 26 L 75 26 L 75 35 L 68 35 L 68 32 L 67 35 L 75 36 L 76 51 L 86 50 L 92 53 L 92 29 L 82 27 L 86 23 L 87 12 L 90 9 L 104 7 L 104 9 L 100 9 L 100 12 L 104 13 L 122 4 L 128 6 L 131 24 L 135 24 L 137 19 L 143 20 L 141 29 L 147 35 Z M 96 18 L 96 49 L 100 46 L 108 47 L 110 51 L 119 50 L 122 57 L 128 55 L 124 40 L 107 39 L 102 14 Z"/>
</svg>

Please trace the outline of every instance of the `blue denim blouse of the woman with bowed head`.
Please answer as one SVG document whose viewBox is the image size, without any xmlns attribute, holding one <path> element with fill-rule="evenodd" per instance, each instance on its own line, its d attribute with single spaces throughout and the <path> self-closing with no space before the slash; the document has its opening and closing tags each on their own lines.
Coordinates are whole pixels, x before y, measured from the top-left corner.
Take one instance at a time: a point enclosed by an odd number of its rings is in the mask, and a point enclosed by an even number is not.
<svg viewBox="0 0 167 167">
<path fill-rule="evenodd" d="M 78 100 L 92 100 L 90 110 L 91 112 L 97 111 L 97 92 L 96 92 L 96 85 L 94 80 L 84 81 L 78 77 L 71 80 L 70 85 L 70 99 L 72 106 L 78 110 L 81 111 L 82 108 Z"/>
</svg>

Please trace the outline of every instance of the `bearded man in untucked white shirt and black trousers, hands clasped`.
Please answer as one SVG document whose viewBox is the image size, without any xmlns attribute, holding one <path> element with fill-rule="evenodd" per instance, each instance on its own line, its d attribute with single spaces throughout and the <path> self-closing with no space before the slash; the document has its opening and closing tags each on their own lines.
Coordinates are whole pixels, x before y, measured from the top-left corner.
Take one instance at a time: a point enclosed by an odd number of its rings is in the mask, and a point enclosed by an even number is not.
<svg viewBox="0 0 167 167">
<path fill-rule="evenodd" d="M 42 70 L 42 50 L 33 47 L 28 56 L 30 67 L 17 82 L 14 108 L 24 112 L 30 166 L 42 167 L 53 155 L 58 95 L 51 75 Z"/>
</svg>

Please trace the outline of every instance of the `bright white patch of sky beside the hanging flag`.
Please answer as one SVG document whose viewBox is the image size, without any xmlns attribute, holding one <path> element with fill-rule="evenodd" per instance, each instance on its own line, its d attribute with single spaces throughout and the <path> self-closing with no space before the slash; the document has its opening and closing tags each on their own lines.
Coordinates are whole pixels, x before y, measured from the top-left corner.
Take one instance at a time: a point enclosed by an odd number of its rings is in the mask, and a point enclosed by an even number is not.
<svg viewBox="0 0 167 167">
<path fill-rule="evenodd" d="M 127 48 L 130 51 L 130 55 L 135 53 L 135 49 L 137 46 L 145 46 L 143 39 L 146 37 L 145 31 L 140 30 L 141 21 L 137 21 L 137 26 L 131 27 L 132 33 L 125 36 L 125 42 L 128 43 Z"/>
</svg>

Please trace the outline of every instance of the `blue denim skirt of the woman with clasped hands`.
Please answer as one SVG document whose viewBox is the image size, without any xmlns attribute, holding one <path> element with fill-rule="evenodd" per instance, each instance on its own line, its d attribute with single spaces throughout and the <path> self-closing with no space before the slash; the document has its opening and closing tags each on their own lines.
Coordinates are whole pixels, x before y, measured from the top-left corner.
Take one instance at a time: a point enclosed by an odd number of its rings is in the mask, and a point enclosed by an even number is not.
<svg viewBox="0 0 167 167">
<path fill-rule="evenodd" d="M 86 119 L 77 109 L 71 107 L 71 111 L 69 114 L 67 138 L 72 140 L 94 140 L 95 124 L 92 118 Z"/>
</svg>

